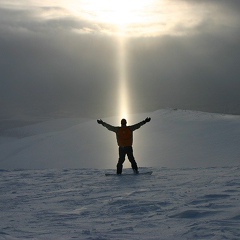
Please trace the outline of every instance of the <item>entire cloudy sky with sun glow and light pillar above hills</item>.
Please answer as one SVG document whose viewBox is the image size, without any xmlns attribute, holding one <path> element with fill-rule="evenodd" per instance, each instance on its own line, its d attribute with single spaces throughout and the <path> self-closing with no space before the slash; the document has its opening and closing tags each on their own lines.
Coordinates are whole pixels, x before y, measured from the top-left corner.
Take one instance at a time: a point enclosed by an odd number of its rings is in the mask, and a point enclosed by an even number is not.
<svg viewBox="0 0 240 240">
<path fill-rule="evenodd" d="M 0 0 L 0 119 L 240 113 L 237 0 Z"/>
</svg>

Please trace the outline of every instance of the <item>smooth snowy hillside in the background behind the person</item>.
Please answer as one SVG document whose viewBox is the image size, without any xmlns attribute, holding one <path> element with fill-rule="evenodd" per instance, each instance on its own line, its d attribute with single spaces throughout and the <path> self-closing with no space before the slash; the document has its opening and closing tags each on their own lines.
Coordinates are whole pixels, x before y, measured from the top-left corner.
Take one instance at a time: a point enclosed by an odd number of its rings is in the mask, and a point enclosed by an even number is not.
<svg viewBox="0 0 240 240">
<path fill-rule="evenodd" d="M 239 165 L 239 116 L 170 109 L 131 116 L 128 124 L 148 116 L 152 121 L 134 133 L 139 166 Z M 114 133 L 96 120 L 52 120 L 10 129 L 0 144 L 0 169 L 115 168 L 117 158 Z M 129 166 L 126 161 L 124 167 Z"/>
</svg>

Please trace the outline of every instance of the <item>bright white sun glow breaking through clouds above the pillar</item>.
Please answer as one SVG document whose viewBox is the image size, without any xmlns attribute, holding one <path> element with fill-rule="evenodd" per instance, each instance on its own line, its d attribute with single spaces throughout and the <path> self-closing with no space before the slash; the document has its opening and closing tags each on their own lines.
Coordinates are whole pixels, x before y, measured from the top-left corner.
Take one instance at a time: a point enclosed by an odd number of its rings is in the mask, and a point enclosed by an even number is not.
<svg viewBox="0 0 240 240">
<path fill-rule="evenodd" d="M 171 0 L 59 0 L 70 15 L 86 27 L 79 33 L 102 33 L 125 37 L 158 36 L 175 29 L 175 23 L 185 11 Z M 190 17 L 191 19 L 191 17 Z M 189 21 L 188 21 L 189 22 Z"/>
</svg>

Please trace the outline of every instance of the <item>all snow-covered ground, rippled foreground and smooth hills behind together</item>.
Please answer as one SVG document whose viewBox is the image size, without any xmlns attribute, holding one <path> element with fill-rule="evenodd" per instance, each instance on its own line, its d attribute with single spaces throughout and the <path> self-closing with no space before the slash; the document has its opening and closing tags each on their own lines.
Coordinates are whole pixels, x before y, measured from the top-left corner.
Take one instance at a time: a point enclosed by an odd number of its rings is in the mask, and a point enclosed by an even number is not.
<svg viewBox="0 0 240 240">
<path fill-rule="evenodd" d="M 95 120 L 3 132 L 0 240 L 239 239 L 240 117 L 159 110 L 129 124 L 147 116 L 134 151 L 151 176 L 106 177 L 115 172 L 116 140 Z M 11 170 L 19 168 L 30 170 Z"/>
</svg>

